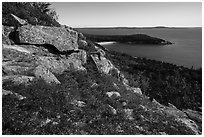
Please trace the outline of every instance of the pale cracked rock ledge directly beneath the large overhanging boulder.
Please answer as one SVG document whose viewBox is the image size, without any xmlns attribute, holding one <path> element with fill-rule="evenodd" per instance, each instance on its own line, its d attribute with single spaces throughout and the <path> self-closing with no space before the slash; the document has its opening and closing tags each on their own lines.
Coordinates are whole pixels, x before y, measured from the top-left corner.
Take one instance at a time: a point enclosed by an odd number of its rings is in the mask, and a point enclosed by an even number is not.
<svg viewBox="0 0 204 137">
<path fill-rule="evenodd" d="M 25 46 L 25 45 L 24 45 Z M 86 53 L 85 51 L 80 51 L 79 53 L 73 53 L 68 59 L 58 58 L 52 54 L 46 54 L 41 49 L 39 49 L 39 56 L 33 53 L 37 52 L 38 49 L 32 48 L 33 45 L 28 45 L 26 48 L 21 47 L 21 45 L 4 45 L 3 46 L 3 62 L 2 69 L 4 75 L 31 75 L 39 78 L 44 77 L 48 83 L 52 80 L 49 78 L 54 78 L 55 74 L 61 74 L 66 70 L 85 70 L 82 66 L 86 63 Z M 43 54 L 47 56 L 42 56 Z M 39 71 L 39 66 L 40 69 Z M 48 69 L 48 70 L 47 70 Z M 36 73 L 36 71 L 38 73 Z M 42 71 L 45 71 L 44 73 Z M 47 71 L 49 71 L 46 76 Z M 41 73 L 39 73 L 41 72 Z M 46 75 L 45 75 L 46 74 Z M 56 79 L 56 78 L 54 78 Z M 56 81 L 56 80 L 54 80 Z M 57 82 L 59 83 L 59 82 Z"/>
</svg>

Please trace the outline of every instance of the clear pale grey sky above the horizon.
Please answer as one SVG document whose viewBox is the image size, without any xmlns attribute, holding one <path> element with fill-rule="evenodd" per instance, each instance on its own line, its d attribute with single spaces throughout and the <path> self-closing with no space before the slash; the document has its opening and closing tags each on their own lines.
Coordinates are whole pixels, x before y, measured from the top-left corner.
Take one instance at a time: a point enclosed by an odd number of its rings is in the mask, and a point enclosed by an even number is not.
<svg viewBox="0 0 204 137">
<path fill-rule="evenodd" d="M 201 2 L 51 2 L 71 27 L 201 27 Z"/>
</svg>

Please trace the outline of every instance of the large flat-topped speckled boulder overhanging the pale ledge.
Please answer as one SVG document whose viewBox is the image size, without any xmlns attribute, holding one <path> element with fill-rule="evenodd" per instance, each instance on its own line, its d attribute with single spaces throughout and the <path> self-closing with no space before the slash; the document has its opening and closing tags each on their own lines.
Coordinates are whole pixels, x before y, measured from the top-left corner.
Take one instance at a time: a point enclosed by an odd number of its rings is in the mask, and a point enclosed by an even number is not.
<svg viewBox="0 0 204 137">
<path fill-rule="evenodd" d="M 26 25 L 18 28 L 16 35 L 17 43 L 50 44 L 59 51 L 78 49 L 77 32 L 66 28 Z"/>
</svg>

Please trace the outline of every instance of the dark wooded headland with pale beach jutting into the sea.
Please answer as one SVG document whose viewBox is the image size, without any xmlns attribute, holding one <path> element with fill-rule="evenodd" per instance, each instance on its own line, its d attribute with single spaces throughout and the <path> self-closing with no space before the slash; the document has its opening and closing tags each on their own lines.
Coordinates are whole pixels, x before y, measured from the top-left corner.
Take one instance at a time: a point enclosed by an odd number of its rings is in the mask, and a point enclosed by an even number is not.
<svg viewBox="0 0 204 137">
<path fill-rule="evenodd" d="M 151 37 L 146 34 L 133 35 L 92 35 L 84 34 L 87 39 L 94 42 L 119 42 L 127 44 L 153 44 L 153 45 L 168 45 L 173 44 L 160 38 Z"/>
</svg>

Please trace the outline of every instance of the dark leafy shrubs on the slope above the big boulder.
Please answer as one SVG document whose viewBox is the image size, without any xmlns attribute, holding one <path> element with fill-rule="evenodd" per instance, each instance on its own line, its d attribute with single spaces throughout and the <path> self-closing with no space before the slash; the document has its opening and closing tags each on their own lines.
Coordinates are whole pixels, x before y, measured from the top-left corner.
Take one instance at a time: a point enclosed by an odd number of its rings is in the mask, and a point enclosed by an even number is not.
<svg viewBox="0 0 204 137">
<path fill-rule="evenodd" d="M 32 25 L 60 26 L 57 22 L 56 12 L 50 9 L 47 2 L 3 2 L 2 24 L 15 26 L 16 20 L 11 13 Z"/>
</svg>

